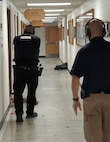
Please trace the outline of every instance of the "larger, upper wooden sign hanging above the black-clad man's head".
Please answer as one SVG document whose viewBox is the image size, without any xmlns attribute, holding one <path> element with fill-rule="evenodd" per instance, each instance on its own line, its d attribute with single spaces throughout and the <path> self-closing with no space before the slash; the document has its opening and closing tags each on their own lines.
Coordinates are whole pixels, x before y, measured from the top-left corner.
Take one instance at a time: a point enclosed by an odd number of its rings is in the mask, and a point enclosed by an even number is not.
<svg viewBox="0 0 110 142">
<path fill-rule="evenodd" d="M 45 12 L 43 9 L 27 9 L 24 12 L 24 17 L 27 20 L 41 20 L 45 17 Z"/>
</svg>

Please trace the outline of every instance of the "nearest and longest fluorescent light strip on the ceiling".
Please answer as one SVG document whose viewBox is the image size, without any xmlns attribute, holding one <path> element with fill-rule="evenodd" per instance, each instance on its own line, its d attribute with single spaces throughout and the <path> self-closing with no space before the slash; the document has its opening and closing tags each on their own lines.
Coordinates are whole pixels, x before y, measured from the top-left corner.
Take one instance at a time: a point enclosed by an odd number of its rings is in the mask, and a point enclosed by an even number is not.
<svg viewBox="0 0 110 142">
<path fill-rule="evenodd" d="M 27 3 L 27 6 L 63 6 L 63 5 L 71 5 L 70 2 L 66 3 Z"/>
</svg>

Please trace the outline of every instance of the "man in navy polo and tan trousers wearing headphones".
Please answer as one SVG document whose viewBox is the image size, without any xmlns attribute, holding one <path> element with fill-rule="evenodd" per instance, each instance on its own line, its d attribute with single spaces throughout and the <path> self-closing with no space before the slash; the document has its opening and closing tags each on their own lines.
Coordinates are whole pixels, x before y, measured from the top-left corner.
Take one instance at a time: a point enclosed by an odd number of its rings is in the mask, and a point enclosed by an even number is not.
<svg viewBox="0 0 110 142">
<path fill-rule="evenodd" d="M 91 19 L 86 25 L 90 43 L 81 48 L 71 69 L 73 109 L 81 110 L 78 89 L 83 77 L 81 98 L 87 142 L 110 142 L 110 42 L 103 39 L 105 25 Z"/>
</svg>

